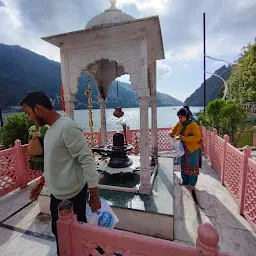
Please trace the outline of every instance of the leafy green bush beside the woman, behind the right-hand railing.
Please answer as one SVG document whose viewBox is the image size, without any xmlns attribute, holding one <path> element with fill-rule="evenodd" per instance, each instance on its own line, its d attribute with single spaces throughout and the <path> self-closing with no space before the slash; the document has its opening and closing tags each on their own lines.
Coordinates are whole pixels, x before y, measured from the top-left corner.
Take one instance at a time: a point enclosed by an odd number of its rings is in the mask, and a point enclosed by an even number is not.
<svg viewBox="0 0 256 256">
<path fill-rule="evenodd" d="M 198 121 L 208 129 L 216 128 L 221 136 L 228 134 L 230 142 L 236 146 L 246 119 L 247 112 L 240 103 L 217 99 L 209 102 L 205 115 L 200 115 Z"/>
</svg>

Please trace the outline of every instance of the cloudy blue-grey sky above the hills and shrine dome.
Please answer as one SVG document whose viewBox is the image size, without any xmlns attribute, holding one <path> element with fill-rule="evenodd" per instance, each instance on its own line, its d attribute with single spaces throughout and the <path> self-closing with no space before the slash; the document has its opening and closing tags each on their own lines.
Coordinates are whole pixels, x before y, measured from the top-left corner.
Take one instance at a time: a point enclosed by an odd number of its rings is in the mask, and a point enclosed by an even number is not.
<svg viewBox="0 0 256 256">
<path fill-rule="evenodd" d="M 40 38 L 83 29 L 108 7 L 108 0 L 0 0 L 0 43 L 59 61 L 59 49 Z M 207 55 L 233 62 L 256 37 L 256 0 L 118 0 L 117 7 L 135 18 L 159 15 L 166 59 L 157 87 L 180 100 L 203 81 L 203 12 Z M 221 65 L 207 60 L 207 71 Z"/>
</svg>

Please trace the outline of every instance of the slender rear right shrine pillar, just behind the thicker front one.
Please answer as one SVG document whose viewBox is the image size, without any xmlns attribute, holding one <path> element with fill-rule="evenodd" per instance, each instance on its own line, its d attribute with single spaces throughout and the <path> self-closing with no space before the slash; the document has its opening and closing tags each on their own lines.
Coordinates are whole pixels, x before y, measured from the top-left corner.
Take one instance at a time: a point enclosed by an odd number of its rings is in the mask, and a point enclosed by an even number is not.
<svg viewBox="0 0 256 256">
<path fill-rule="evenodd" d="M 157 137 L 157 95 L 151 95 L 151 156 L 154 164 L 158 163 L 158 137 Z"/>
</svg>

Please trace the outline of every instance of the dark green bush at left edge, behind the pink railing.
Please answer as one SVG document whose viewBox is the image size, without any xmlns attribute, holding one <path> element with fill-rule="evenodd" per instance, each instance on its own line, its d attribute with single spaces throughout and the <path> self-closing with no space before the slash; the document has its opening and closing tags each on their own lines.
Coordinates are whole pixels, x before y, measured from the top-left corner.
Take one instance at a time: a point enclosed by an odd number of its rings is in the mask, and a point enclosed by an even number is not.
<svg viewBox="0 0 256 256">
<path fill-rule="evenodd" d="M 32 125 L 34 123 L 28 119 L 25 113 L 8 116 L 1 134 L 3 145 L 6 148 L 13 146 L 16 139 L 19 139 L 22 144 L 27 144 L 28 129 Z"/>
</svg>

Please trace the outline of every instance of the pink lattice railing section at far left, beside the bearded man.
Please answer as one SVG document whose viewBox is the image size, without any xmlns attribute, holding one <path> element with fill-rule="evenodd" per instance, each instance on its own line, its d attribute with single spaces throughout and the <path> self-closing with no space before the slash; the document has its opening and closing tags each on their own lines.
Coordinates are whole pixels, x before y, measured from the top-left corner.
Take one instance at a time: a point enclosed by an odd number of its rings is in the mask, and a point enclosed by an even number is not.
<svg viewBox="0 0 256 256">
<path fill-rule="evenodd" d="M 30 170 L 27 145 L 15 141 L 13 148 L 0 151 L 0 197 L 38 178 L 40 171 Z"/>
</svg>

